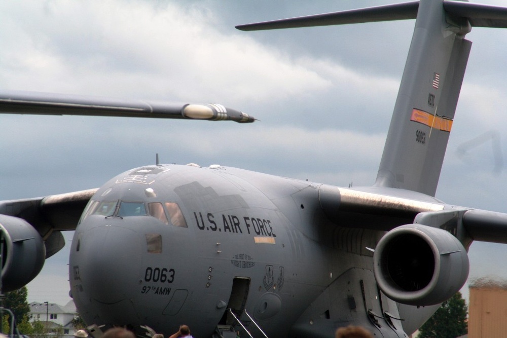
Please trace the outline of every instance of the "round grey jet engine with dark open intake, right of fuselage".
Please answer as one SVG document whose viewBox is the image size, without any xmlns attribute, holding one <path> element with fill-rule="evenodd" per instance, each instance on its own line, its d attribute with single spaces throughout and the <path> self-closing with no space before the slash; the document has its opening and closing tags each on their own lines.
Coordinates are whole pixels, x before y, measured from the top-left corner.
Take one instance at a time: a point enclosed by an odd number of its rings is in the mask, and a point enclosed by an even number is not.
<svg viewBox="0 0 507 338">
<path fill-rule="evenodd" d="M 407 224 L 389 231 L 377 244 L 374 273 L 380 289 L 408 305 L 439 304 L 468 277 L 468 255 L 445 230 Z"/>
</svg>

